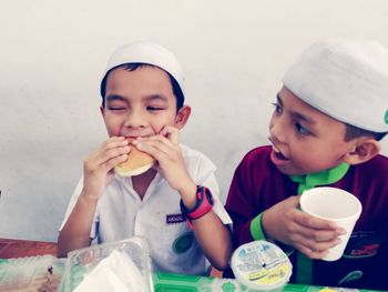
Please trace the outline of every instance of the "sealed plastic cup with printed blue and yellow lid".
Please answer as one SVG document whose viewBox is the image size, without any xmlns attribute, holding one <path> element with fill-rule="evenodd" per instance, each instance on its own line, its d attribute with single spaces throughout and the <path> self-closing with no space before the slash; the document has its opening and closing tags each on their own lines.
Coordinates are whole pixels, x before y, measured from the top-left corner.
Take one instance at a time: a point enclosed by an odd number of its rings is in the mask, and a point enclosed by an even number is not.
<svg viewBox="0 0 388 292">
<path fill-rule="evenodd" d="M 254 291 L 282 291 L 293 272 L 288 256 L 274 243 L 262 240 L 235 250 L 231 265 L 238 283 Z M 242 290 L 246 291 L 244 286 Z"/>
</svg>

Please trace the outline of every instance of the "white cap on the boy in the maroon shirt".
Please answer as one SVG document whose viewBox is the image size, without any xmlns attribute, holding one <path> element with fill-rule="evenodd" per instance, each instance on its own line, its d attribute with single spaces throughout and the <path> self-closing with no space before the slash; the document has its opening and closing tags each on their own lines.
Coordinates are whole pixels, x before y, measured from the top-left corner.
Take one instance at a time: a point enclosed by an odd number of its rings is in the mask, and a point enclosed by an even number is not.
<svg viewBox="0 0 388 292">
<path fill-rule="evenodd" d="M 288 69 L 283 82 L 336 120 L 388 132 L 388 50 L 377 41 L 316 42 Z"/>
</svg>

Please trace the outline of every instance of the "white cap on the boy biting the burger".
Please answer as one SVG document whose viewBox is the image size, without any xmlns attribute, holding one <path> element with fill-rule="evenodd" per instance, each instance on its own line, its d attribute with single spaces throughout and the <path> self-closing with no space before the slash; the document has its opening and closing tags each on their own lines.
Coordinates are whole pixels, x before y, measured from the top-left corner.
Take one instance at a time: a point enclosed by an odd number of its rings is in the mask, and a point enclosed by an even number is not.
<svg viewBox="0 0 388 292">
<path fill-rule="evenodd" d="M 175 56 L 164 47 L 152 42 L 132 42 L 119 47 L 108 60 L 103 80 L 110 70 L 126 63 L 156 66 L 169 72 L 178 83 L 184 94 L 184 74 Z"/>
</svg>

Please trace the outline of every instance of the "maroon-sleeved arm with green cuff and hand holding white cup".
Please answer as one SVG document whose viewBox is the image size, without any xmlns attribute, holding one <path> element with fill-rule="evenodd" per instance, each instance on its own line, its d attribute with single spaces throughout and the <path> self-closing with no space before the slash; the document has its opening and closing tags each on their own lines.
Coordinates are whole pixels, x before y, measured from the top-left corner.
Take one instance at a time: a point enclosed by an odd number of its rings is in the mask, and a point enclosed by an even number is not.
<svg viewBox="0 0 388 292">
<path fill-rule="evenodd" d="M 338 243 L 343 230 L 303 213 L 298 210 L 298 197 L 290 197 L 257 213 L 259 178 L 252 181 L 248 161 L 244 159 L 237 167 L 226 200 L 235 244 L 272 240 L 298 249 L 312 259 L 323 258 L 327 249 Z"/>
</svg>

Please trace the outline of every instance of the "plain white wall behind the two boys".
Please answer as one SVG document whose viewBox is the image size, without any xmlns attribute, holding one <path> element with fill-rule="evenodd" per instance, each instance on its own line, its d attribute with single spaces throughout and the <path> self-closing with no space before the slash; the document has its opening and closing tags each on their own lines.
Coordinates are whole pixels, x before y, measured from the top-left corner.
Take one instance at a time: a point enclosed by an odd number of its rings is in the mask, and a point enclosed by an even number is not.
<svg viewBox="0 0 388 292">
<path fill-rule="evenodd" d="M 289 63 L 326 37 L 388 47 L 386 0 L 9 0 L 0 9 L 0 236 L 57 240 L 82 160 L 106 137 L 99 83 L 112 50 L 152 40 L 186 71 L 183 142 L 236 164 L 267 142 Z M 384 152 L 388 151 L 387 141 Z"/>
</svg>

